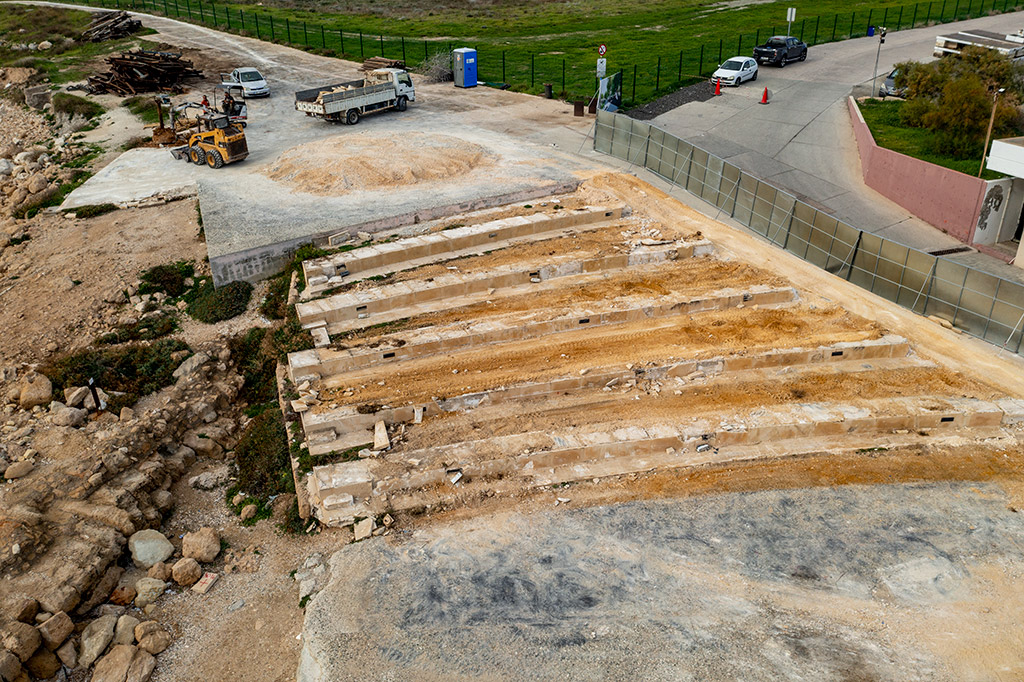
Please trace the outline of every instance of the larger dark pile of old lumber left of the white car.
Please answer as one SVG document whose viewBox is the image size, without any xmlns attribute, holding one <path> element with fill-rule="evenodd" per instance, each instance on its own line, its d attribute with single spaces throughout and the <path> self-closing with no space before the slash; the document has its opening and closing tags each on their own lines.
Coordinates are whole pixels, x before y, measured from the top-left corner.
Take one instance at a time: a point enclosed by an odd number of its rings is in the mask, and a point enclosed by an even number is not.
<svg viewBox="0 0 1024 682">
<path fill-rule="evenodd" d="M 137 50 L 106 58 L 111 71 L 89 77 L 92 92 L 113 92 L 121 96 L 140 92 L 181 92 L 182 83 L 203 78 L 191 61 L 173 52 Z"/>
</svg>

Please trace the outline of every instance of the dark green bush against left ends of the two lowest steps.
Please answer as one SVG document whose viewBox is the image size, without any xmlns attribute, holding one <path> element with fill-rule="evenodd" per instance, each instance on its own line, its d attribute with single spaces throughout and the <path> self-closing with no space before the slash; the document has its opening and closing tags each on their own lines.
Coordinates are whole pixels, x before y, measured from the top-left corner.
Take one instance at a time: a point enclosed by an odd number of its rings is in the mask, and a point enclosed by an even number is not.
<svg viewBox="0 0 1024 682">
<path fill-rule="evenodd" d="M 239 488 L 265 500 L 294 491 L 288 434 L 280 410 L 267 410 L 249 422 L 234 447 Z"/>
</svg>

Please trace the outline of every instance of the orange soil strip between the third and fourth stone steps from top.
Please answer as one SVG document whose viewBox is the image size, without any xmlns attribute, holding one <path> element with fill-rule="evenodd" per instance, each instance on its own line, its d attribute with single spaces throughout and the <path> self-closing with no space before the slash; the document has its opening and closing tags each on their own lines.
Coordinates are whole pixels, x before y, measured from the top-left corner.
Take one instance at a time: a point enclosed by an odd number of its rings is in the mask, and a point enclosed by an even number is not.
<svg viewBox="0 0 1024 682">
<path fill-rule="evenodd" d="M 326 391 L 322 399 L 338 404 L 404 404 L 578 375 L 582 370 L 623 368 L 628 363 L 662 365 L 702 354 L 813 347 L 880 336 L 872 324 L 840 308 L 724 310 L 695 317 L 643 319 L 377 367 L 328 380 L 339 387 Z M 352 394 L 346 396 L 346 391 Z"/>
</svg>

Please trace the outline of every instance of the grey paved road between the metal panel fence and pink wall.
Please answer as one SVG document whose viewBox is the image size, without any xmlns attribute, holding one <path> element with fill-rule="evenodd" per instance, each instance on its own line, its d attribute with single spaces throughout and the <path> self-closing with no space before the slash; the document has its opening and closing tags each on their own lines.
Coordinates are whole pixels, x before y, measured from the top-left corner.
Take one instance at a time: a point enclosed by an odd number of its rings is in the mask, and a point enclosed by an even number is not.
<svg viewBox="0 0 1024 682">
<path fill-rule="evenodd" d="M 890 33 L 879 74 L 888 74 L 898 61 L 932 58 L 940 32 L 970 27 L 1011 33 L 1022 26 L 1024 14 L 1016 12 Z M 958 246 L 863 183 L 846 97 L 853 89 L 867 94 L 877 49 L 877 38 L 812 46 L 807 61 L 763 67 L 756 83 L 726 88 L 710 101 L 689 102 L 653 123 L 861 229 L 919 249 Z M 772 93 L 768 106 L 758 103 L 764 87 Z M 954 259 L 1024 281 L 1024 270 L 983 254 Z"/>
</svg>

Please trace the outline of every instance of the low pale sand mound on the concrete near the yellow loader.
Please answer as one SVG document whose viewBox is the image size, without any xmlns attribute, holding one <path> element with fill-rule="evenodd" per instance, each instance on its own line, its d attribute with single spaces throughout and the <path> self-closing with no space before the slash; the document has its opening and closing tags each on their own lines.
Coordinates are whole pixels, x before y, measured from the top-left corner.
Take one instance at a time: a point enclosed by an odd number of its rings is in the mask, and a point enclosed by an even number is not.
<svg viewBox="0 0 1024 682">
<path fill-rule="evenodd" d="M 312 195 L 418 184 L 462 175 L 495 159 L 447 135 L 337 135 L 288 150 L 263 170 L 271 180 Z"/>
</svg>

